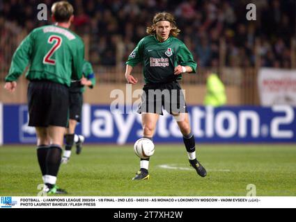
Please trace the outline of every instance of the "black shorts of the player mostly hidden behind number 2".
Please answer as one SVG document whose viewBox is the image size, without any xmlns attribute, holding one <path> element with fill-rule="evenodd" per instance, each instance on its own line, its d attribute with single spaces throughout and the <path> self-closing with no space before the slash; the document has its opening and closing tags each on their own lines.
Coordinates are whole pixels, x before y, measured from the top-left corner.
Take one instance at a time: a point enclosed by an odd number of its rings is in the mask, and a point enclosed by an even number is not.
<svg viewBox="0 0 296 222">
<path fill-rule="evenodd" d="M 80 122 L 83 97 L 82 92 L 70 92 L 69 94 L 69 119 Z"/>
</svg>

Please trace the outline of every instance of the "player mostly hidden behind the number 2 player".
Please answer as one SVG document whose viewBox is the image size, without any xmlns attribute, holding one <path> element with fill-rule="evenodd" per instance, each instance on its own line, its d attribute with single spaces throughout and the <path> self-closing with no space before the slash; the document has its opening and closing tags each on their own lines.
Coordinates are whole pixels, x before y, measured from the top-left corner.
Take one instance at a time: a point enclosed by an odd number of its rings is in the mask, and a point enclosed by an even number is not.
<svg viewBox="0 0 296 222">
<path fill-rule="evenodd" d="M 76 144 L 77 154 L 81 153 L 81 144 L 84 142 L 84 136 L 76 135 L 75 128 L 77 122 L 81 120 L 82 94 L 85 91 L 85 86 L 92 89 L 95 85 L 95 74 L 93 73 L 93 67 L 90 62 L 84 61 L 83 75 L 84 77 L 81 80 L 73 81 L 70 86 L 69 126 L 65 134 L 65 151 L 61 160 L 63 164 L 68 163 L 74 142 Z"/>
</svg>

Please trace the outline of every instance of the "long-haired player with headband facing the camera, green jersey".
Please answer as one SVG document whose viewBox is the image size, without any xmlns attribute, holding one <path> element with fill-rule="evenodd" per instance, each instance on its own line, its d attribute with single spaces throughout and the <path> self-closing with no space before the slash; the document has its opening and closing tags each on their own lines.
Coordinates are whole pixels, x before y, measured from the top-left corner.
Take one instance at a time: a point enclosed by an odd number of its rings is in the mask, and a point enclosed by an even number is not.
<svg viewBox="0 0 296 222">
<path fill-rule="evenodd" d="M 153 140 L 155 126 L 164 107 L 178 123 L 189 163 L 199 176 L 205 177 L 207 172 L 196 160 L 194 135 L 190 128 L 184 95 L 178 83 L 183 73 L 196 72 L 196 62 L 185 44 L 176 38 L 179 32 L 173 15 L 168 12 L 157 13 L 153 18 L 153 25 L 147 28 L 150 35 L 143 37 L 126 62 L 125 78 L 127 83 L 136 84 L 138 80 L 132 76 L 132 69 L 139 62 L 143 64 L 146 85 L 143 87 L 139 108 L 143 137 Z M 149 158 L 141 159 L 140 171 L 133 180 L 149 179 L 148 167 Z"/>
</svg>

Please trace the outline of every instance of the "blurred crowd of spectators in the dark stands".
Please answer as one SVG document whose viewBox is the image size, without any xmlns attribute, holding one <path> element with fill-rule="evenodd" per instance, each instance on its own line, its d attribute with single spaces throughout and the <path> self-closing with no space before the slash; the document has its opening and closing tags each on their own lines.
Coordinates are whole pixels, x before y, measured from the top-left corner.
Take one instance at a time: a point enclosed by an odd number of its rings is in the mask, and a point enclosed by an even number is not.
<svg viewBox="0 0 296 222">
<path fill-rule="evenodd" d="M 37 6 L 45 3 L 49 17 L 53 2 L 0 1 L 0 64 L 10 36 L 50 24 L 50 19 L 38 21 Z M 262 67 L 291 68 L 295 0 L 251 1 L 256 5 L 256 21 L 246 18 L 246 6 L 250 3 L 247 0 L 74 0 L 70 3 L 75 8 L 74 31 L 80 35 L 91 34 L 89 60 L 93 65 L 116 65 L 118 43 L 123 46 L 120 62 L 124 65 L 137 42 L 146 36 L 146 27 L 152 24 L 155 13 L 166 11 L 175 15 L 180 39 L 200 67 L 217 67 L 219 62 L 229 67 L 254 67 L 260 61 Z"/>
</svg>

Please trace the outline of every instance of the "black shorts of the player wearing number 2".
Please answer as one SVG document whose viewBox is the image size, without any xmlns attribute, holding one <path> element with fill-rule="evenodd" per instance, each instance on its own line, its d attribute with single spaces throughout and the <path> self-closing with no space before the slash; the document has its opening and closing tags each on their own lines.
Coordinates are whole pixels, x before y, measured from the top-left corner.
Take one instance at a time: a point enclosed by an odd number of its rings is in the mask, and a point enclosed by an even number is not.
<svg viewBox="0 0 296 222">
<path fill-rule="evenodd" d="M 29 126 L 67 126 L 69 88 L 51 81 L 31 81 L 28 86 Z"/>
</svg>

